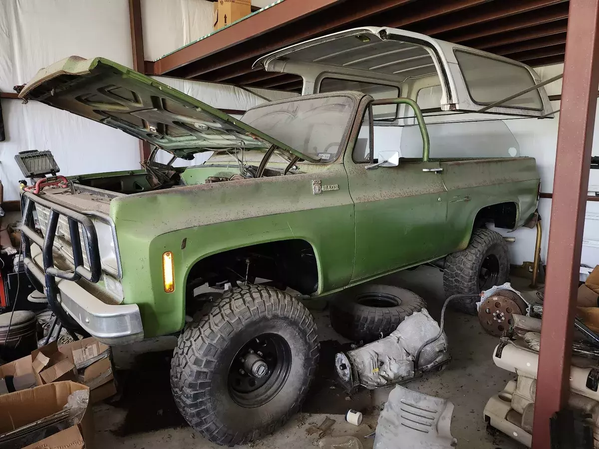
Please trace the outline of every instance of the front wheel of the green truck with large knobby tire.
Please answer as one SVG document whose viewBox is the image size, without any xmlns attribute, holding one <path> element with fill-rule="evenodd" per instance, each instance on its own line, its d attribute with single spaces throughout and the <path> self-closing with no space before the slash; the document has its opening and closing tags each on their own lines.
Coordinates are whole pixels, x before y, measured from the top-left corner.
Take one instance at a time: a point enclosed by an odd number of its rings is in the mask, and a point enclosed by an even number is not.
<svg viewBox="0 0 599 449">
<path fill-rule="evenodd" d="M 175 402 L 210 441 L 253 441 L 298 411 L 318 351 L 316 325 L 297 299 L 264 286 L 227 290 L 179 336 L 171 362 Z"/>
</svg>

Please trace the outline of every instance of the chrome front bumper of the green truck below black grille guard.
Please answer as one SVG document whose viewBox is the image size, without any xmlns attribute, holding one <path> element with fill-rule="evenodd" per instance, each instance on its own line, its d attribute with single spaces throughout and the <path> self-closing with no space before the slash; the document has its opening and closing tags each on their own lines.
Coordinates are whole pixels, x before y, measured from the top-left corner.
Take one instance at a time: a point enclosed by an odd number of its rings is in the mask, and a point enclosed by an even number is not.
<svg viewBox="0 0 599 449">
<path fill-rule="evenodd" d="M 43 255 L 31 245 L 26 269 L 44 285 Z M 60 306 L 90 335 L 107 345 L 123 345 L 144 338 L 140 309 L 136 304 L 105 304 L 74 281 L 57 279 Z"/>
</svg>

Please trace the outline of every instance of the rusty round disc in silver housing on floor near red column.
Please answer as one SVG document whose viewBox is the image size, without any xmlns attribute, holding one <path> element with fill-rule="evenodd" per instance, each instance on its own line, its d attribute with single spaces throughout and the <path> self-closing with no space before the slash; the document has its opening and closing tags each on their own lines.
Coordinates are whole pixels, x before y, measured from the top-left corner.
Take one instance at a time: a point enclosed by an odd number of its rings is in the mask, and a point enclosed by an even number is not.
<svg viewBox="0 0 599 449">
<path fill-rule="evenodd" d="M 530 306 L 509 282 L 480 293 L 480 325 L 486 333 L 501 336 L 513 324 L 513 315 L 527 315 Z"/>
</svg>

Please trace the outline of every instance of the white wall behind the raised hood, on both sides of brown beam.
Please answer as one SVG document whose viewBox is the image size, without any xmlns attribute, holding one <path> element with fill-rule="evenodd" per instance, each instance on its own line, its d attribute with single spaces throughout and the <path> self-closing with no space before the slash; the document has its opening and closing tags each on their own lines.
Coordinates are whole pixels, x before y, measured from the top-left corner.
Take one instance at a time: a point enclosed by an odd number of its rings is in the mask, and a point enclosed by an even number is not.
<svg viewBox="0 0 599 449">
<path fill-rule="evenodd" d="M 206 0 L 143 0 L 146 59 L 155 59 L 212 31 L 213 3 Z M 38 69 L 68 56 L 103 56 L 132 67 L 128 0 L 0 1 L 0 90 L 30 80 Z M 265 99 L 223 84 L 159 78 L 217 108 L 247 110 Z M 256 89 L 270 99 L 294 95 Z M 14 160 L 25 150 L 50 150 L 60 174 L 140 168 L 138 140 L 128 134 L 46 105 L 2 100 L 6 141 L 0 142 L 4 199 L 19 198 L 23 178 Z M 179 165 L 201 163 L 208 154 Z M 158 158 L 170 159 L 167 153 Z"/>
</svg>

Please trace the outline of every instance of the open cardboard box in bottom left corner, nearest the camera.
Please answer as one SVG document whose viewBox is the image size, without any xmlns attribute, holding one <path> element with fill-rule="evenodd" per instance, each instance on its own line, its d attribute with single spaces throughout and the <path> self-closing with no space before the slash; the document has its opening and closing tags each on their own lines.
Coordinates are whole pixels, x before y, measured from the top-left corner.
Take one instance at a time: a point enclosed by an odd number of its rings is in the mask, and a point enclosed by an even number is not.
<svg viewBox="0 0 599 449">
<path fill-rule="evenodd" d="M 62 410 L 69 395 L 77 390 L 89 391 L 84 385 L 67 381 L 0 396 L 0 435 Z M 89 449 L 92 439 L 93 418 L 88 402 L 78 424 L 29 444 L 25 449 Z"/>
</svg>

